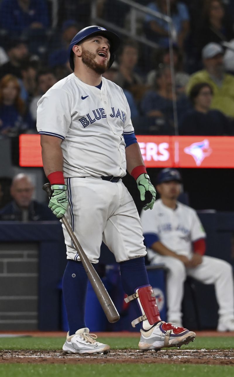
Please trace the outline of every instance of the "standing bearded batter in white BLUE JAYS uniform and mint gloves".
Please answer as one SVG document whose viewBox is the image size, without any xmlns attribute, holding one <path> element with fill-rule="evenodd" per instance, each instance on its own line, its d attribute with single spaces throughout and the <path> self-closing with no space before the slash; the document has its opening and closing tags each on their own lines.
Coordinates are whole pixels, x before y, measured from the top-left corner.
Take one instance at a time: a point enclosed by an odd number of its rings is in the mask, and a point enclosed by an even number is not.
<svg viewBox="0 0 234 377">
<path fill-rule="evenodd" d="M 92 263 L 102 241 L 120 263 L 123 288 L 141 323 L 141 349 L 182 345 L 195 334 L 162 322 L 144 266 L 140 217 L 122 183 L 126 169 L 135 178 L 152 209 L 156 192 L 140 153 L 123 90 L 102 74 L 114 62 L 119 37 L 100 26 L 89 26 L 70 44 L 74 73 L 50 88 L 38 101 L 37 129 L 41 135 L 44 171 L 53 194 L 49 207 L 64 214 Z M 67 267 L 62 290 L 69 331 L 63 350 L 68 353 L 106 353 L 85 325 L 87 275 L 64 228 Z"/>
</svg>

